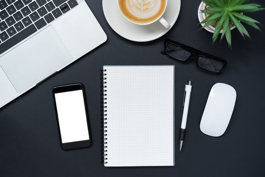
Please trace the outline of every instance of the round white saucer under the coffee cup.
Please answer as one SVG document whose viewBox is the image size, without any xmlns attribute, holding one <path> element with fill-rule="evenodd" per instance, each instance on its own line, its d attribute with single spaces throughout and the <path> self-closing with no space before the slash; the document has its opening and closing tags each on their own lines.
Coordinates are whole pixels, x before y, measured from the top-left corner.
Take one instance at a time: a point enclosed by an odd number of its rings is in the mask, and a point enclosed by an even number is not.
<svg viewBox="0 0 265 177">
<path fill-rule="evenodd" d="M 103 0 L 103 12 L 111 28 L 120 36 L 138 42 L 157 39 L 170 30 L 160 22 L 151 25 L 137 25 L 126 20 L 119 11 L 118 0 Z M 168 0 L 163 18 L 171 25 L 175 24 L 180 14 L 181 0 Z"/>
</svg>

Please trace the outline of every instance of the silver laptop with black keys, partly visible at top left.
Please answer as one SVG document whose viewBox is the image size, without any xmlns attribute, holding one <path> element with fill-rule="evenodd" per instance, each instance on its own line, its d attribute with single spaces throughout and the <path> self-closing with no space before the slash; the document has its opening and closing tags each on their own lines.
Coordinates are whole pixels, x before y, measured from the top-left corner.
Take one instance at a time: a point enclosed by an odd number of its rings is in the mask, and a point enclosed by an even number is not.
<svg viewBox="0 0 265 177">
<path fill-rule="evenodd" d="M 0 108 L 106 40 L 84 0 L 0 0 Z"/>
</svg>

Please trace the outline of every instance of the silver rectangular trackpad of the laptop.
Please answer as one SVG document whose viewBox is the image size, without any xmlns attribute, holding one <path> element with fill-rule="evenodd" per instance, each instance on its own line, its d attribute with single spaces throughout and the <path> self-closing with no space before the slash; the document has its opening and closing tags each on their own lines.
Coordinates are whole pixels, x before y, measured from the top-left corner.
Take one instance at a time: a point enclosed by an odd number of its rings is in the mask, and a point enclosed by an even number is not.
<svg viewBox="0 0 265 177">
<path fill-rule="evenodd" d="M 49 26 L 2 56 L 0 66 L 21 93 L 71 60 L 62 40 Z"/>
</svg>

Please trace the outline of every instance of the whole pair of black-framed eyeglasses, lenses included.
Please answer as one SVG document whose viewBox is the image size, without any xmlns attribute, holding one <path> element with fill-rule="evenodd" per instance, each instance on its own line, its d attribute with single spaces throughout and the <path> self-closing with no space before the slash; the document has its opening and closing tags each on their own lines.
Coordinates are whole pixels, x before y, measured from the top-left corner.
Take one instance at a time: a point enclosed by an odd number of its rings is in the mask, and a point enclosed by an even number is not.
<svg viewBox="0 0 265 177">
<path fill-rule="evenodd" d="M 198 67 L 214 73 L 220 73 L 227 65 L 227 61 L 224 59 L 206 54 L 170 39 L 165 40 L 165 49 L 161 53 L 182 62 L 194 57 L 197 60 Z"/>
</svg>

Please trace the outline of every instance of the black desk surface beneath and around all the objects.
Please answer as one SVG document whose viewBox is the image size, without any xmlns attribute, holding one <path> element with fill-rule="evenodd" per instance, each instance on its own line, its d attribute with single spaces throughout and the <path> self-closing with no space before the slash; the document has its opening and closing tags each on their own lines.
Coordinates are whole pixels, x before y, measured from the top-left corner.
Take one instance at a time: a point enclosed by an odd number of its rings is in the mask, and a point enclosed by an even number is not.
<svg viewBox="0 0 265 177">
<path fill-rule="evenodd" d="M 261 0 L 252 1 L 265 6 Z M 211 33 L 198 30 L 199 0 L 182 1 L 179 19 L 163 37 L 145 43 L 116 34 L 105 20 L 102 1 L 90 8 L 107 33 L 100 48 L 85 55 L 28 93 L 0 109 L 0 176 L 265 176 L 264 70 L 265 32 L 247 27 L 252 40 L 232 32 L 212 45 Z M 265 25 L 265 11 L 249 14 Z M 265 31 L 265 27 L 262 28 Z M 160 54 L 165 38 L 174 39 L 228 61 L 222 75 L 205 73 L 195 62 L 178 63 Z M 106 168 L 101 164 L 100 69 L 103 65 L 176 67 L 176 164 L 174 167 Z M 186 141 L 181 153 L 179 128 L 184 84 L 193 81 Z M 85 86 L 93 145 L 63 151 L 59 144 L 52 88 L 81 82 Z M 199 123 L 211 86 L 231 84 L 237 101 L 228 129 L 219 138 L 204 135 Z"/>
</svg>

